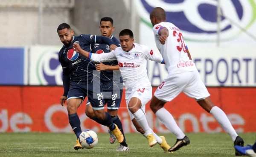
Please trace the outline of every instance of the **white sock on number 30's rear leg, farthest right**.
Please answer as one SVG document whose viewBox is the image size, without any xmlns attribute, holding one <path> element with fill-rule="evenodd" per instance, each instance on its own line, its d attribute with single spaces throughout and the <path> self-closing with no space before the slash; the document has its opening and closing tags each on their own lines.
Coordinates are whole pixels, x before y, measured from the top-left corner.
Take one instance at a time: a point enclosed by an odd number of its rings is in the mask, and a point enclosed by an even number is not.
<svg viewBox="0 0 256 157">
<path fill-rule="evenodd" d="M 227 118 L 227 115 L 217 106 L 212 107 L 210 114 L 213 115 L 221 127 L 232 137 L 232 140 L 235 141 L 238 135 Z"/>
</svg>

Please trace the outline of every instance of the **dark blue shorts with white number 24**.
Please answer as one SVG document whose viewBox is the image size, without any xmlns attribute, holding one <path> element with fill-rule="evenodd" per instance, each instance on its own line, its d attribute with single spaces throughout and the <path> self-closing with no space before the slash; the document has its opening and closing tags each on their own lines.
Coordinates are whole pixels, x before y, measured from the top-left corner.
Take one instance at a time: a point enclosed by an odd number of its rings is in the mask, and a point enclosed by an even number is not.
<svg viewBox="0 0 256 157">
<path fill-rule="evenodd" d="M 99 83 L 70 84 L 67 100 L 70 98 L 82 98 L 83 102 L 86 96 L 93 108 L 104 109 L 105 102 L 103 99 L 102 88 Z"/>
</svg>

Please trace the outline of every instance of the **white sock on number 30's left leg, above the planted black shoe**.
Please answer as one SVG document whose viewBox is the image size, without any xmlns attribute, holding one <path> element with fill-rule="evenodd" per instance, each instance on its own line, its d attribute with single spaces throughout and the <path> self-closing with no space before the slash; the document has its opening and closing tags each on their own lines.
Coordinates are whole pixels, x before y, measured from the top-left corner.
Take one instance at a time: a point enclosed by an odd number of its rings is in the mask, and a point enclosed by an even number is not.
<svg viewBox="0 0 256 157">
<path fill-rule="evenodd" d="M 160 119 L 163 125 L 165 125 L 166 128 L 177 137 L 177 139 L 183 139 L 185 137 L 185 134 L 181 131 L 171 113 L 168 112 L 164 107 L 156 112 L 156 116 Z"/>
</svg>

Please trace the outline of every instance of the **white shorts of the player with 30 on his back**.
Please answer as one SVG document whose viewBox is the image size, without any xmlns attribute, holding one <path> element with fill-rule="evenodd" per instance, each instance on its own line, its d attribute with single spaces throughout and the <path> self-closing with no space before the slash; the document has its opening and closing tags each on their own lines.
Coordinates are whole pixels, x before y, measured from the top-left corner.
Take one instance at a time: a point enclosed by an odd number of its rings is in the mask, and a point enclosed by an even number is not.
<svg viewBox="0 0 256 157">
<path fill-rule="evenodd" d="M 185 93 L 196 101 L 210 96 L 200 78 L 198 71 L 189 71 L 167 76 L 157 87 L 154 96 L 161 101 L 172 101 L 180 92 Z"/>
</svg>

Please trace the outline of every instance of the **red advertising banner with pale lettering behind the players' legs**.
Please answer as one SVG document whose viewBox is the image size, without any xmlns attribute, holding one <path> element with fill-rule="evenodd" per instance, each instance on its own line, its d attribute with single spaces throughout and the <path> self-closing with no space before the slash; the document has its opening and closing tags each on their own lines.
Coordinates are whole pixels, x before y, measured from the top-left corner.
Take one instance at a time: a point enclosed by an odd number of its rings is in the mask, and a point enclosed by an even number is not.
<svg viewBox="0 0 256 157">
<path fill-rule="evenodd" d="M 208 87 L 208 90 L 213 103 L 227 114 L 237 132 L 256 132 L 255 87 Z M 0 132 L 72 132 L 66 106 L 62 107 L 59 101 L 62 87 L 0 86 L 0 91 Z M 124 93 L 118 115 L 125 132 L 137 132 L 129 118 Z M 85 102 L 78 109 L 81 128 L 107 132 L 106 126 L 85 115 Z M 184 132 L 224 132 L 211 114 L 183 93 L 165 107 Z M 149 103 L 146 116 L 155 132 L 169 132 L 151 111 Z"/>
</svg>

